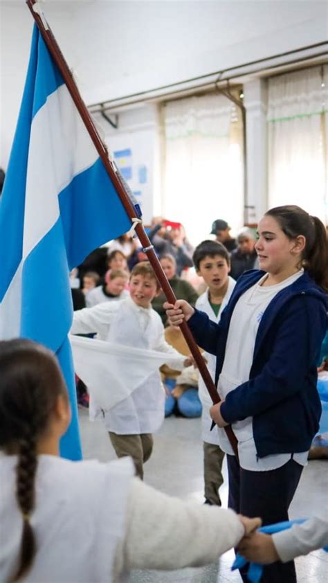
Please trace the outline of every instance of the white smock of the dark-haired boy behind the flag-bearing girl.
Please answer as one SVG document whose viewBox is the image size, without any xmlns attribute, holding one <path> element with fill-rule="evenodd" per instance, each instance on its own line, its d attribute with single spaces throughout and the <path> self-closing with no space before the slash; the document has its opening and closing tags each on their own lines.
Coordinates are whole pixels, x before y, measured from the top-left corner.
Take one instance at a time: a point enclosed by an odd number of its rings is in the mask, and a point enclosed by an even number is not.
<svg viewBox="0 0 328 583">
<path fill-rule="evenodd" d="M 228 304 L 228 301 L 230 300 L 230 296 L 233 293 L 233 288 L 235 287 L 235 285 L 236 285 L 235 280 L 233 278 L 230 278 L 229 276 L 228 289 L 226 295 L 224 296 L 224 301 L 221 303 L 219 314 L 217 314 L 217 316 L 215 316 L 215 312 L 213 312 L 213 308 L 210 305 L 210 301 L 208 299 L 208 289 L 206 289 L 206 292 L 199 296 L 195 304 L 195 307 L 197 307 L 197 310 L 205 312 L 210 320 L 218 323 L 221 318 L 222 311 L 224 310 L 224 308 Z M 210 355 L 209 352 L 203 352 L 203 356 L 207 360 L 207 367 L 209 373 L 213 379 L 213 382 L 215 382 L 215 367 L 217 364 L 217 357 L 215 355 Z M 210 395 L 208 394 L 206 384 L 203 382 L 201 375 L 199 375 L 198 394 L 202 404 L 201 438 L 206 443 L 212 443 L 212 445 L 219 445 L 219 427 L 215 425 L 212 431 L 210 431 L 210 428 L 212 427 L 212 419 L 210 418 L 210 407 L 212 406 L 213 403 L 210 398 Z"/>
</svg>

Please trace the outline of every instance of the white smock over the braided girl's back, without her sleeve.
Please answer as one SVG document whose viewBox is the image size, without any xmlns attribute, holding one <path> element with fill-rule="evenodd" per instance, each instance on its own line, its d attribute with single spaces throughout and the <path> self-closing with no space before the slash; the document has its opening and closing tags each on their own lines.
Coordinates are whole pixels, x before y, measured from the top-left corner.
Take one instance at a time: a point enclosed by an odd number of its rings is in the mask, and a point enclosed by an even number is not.
<svg viewBox="0 0 328 583">
<path fill-rule="evenodd" d="M 39 456 L 31 525 L 35 562 L 24 583 L 113 582 L 125 537 L 130 458 L 109 464 Z M 15 497 L 17 456 L 0 457 L 0 581 L 15 571 L 22 517 Z M 117 579 L 127 581 L 124 575 Z"/>
</svg>

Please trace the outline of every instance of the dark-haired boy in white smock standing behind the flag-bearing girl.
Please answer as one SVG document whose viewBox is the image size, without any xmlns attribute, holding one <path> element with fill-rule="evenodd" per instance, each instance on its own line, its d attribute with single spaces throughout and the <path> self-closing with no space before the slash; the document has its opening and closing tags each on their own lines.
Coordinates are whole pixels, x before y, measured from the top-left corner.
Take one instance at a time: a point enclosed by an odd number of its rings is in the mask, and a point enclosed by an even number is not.
<svg viewBox="0 0 328 583">
<path fill-rule="evenodd" d="M 206 240 L 196 247 L 192 259 L 197 275 L 201 276 L 208 286 L 206 292 L 197 299 L 195 307 L 197 310 L 205 312 L 210 320 L 218 323 L 235 287 L 235 280 L 229 277 L 230 258 L 228 251 L 221 243 Z M 214 381 L 216 357 L 208 352 L 204 352 L 203 356 L 206 358 L 208 370 Z M 224 451 L 219 446 L 217 426 L 210 431 L 212 400 L 201 376 L 199 377 L 199 399 L 202 404 L 201 436 L 203 439 L 205 503 L 221 506 L 219 487 L 224 482 L 221 472 Z"/>
</svg>

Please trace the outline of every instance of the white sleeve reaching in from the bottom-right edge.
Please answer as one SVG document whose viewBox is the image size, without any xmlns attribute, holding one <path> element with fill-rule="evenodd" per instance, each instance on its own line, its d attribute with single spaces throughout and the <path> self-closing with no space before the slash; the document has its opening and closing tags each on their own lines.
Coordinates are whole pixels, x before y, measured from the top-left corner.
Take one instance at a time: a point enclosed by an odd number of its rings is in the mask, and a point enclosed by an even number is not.
<svg viewBox="0 0 328 583">
<path fill-rule="evenodd" d="M 314 517 L 302 524 L 294 524 L 288 530 L 272 535 L 273 544 L 283 563 L 311 550 L 328 546 L 328 516 Z"/>
</svg>

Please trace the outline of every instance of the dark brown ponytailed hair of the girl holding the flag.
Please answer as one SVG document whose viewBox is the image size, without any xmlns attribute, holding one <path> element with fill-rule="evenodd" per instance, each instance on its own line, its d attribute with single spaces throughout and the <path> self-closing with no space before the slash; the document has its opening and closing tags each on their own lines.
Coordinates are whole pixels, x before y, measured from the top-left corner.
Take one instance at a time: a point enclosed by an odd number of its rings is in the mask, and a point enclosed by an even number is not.
<svg viewBox="0 0 328 583">
<path fill-rule="evenodd" d="M 305 237 L 302 266 L 311 278 L 328 292 L 328 240 L 324 224 L 299 206 L 276 206 L 266 215 L 273 217 L 289 239 Z"/>
</svg>

